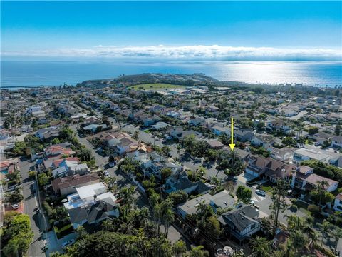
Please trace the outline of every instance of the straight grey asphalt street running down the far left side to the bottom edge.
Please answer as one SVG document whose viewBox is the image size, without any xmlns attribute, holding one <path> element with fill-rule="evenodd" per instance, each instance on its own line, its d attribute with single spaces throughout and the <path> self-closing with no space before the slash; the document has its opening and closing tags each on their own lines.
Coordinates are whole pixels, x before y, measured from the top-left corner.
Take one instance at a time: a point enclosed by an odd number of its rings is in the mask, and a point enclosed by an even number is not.
<svg viewBox="0 0 342 257">
<path fill-rule="evenodd" d="M 29 168 L 33 165 L 31 161 L 27 161 L 21 158 L 19 161 L 23 196 L 24 196 L 24 213 L 30 217 L 31 229 L 34 233 L 33 242 L 28 248 L 28 256 L 38 257 L 45 256 L 43 252 L 44 242 L 43 242 L 43 218 L 34 209 L 38 206 L 38 199 L 36 193 L 33 193 L 33 188 L 36 188 L 36 183 L 28 178 Z M 38 192 L 36 190 L 36 192 Z"/>
</svg>

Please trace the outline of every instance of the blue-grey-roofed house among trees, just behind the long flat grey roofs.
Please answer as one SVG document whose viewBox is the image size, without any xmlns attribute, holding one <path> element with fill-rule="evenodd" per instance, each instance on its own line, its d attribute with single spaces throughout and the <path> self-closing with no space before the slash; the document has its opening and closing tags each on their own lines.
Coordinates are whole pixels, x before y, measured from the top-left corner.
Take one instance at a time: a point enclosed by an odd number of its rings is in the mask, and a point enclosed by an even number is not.
<svg viewBox="0 0 342 257">
<path fill-rule="evenodd" d="M 210 191 L 210 188 L 202 181 L 190 181 L 190 179 L 187 178 L 187 173 L 185 171 L 182 171 L 168 177 L 164 185 L 164 191 L 167 194 L 179 190 L 185 191 L 188 194 L 200 194 L 208 193 Z"/>
</svg>

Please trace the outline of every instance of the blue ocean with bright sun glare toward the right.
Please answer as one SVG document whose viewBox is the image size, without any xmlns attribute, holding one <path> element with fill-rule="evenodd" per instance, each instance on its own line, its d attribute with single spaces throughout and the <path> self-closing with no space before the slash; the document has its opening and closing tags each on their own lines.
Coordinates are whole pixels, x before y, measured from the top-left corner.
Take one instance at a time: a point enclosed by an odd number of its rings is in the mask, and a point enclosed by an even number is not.
<svg viewBox="0 0 342 257">
<path fill-rule="evenodd" d="M 220 81 L 341 86 L 342 61 L 1 61 L 1 88 L 76 85 L 122 74 L 204 73 Z"/>
</svg>

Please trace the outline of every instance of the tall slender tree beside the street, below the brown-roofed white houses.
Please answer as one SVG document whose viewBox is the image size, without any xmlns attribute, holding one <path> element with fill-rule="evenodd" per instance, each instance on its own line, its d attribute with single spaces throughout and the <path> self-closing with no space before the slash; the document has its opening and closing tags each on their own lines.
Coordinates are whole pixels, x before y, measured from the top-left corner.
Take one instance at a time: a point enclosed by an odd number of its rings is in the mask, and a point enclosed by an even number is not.
<svg viewBox="0 0 342 257">
<path fill-rule="evenodd" d="M 271 214 L 274 217 L 275 229 L 278 228 L 279 212 L 283 213 L 286 210 L 286 190 L 288 184 L 283 179 L 279 179 L 271 191 L 272 203 L 269 206 Z"/>
</svg>

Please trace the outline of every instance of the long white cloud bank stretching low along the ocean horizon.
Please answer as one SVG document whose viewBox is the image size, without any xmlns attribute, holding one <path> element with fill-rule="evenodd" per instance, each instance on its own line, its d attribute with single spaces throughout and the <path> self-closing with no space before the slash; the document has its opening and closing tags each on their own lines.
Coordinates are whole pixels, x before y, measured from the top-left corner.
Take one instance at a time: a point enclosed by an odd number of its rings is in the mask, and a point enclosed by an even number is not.
<svg viewBox="0 0 342 257">
<path fill-rule="evenodd" d="M 86 49 L 5 51 L 3 56 L 75 56 L 155 59 L 342 59 L 342 49 L 281 49 L 233 46 L 93 46 Z"/>
</svg>

